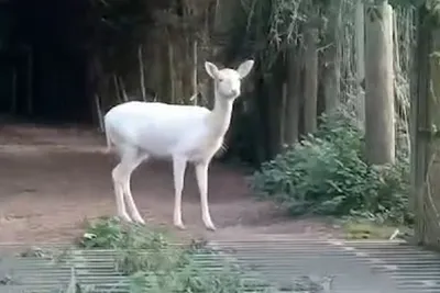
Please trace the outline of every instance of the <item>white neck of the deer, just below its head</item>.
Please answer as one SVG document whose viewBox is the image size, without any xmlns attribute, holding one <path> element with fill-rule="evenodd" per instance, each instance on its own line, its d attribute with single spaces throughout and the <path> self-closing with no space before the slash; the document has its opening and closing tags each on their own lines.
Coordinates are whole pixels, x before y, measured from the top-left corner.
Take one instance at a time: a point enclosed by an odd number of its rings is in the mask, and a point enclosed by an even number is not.
<svg viewBox="0 0 440 293">
<path fill-rule="evenodd" d="M 208 124 L 210 128 L 210 136 L 212 138 L 221 138 L 228 132 L 231 124 L 233 100 L 228 100 L 220 97 L 215 91 L 215 106 L 209 115 Z"/>
</svg>

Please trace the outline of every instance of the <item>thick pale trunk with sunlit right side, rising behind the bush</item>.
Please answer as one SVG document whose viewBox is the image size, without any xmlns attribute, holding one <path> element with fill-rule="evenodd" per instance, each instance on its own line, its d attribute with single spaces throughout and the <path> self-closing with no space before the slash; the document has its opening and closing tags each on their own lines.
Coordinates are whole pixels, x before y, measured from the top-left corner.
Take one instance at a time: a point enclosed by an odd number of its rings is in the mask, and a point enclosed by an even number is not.
<svg viewBox="0 0 440 293">
<path fill-rule="evenodd" d="M 365 48 L 365 143 L 371 164 L 395 159 L 393 9 L 369 8 Z"/>
</svg>

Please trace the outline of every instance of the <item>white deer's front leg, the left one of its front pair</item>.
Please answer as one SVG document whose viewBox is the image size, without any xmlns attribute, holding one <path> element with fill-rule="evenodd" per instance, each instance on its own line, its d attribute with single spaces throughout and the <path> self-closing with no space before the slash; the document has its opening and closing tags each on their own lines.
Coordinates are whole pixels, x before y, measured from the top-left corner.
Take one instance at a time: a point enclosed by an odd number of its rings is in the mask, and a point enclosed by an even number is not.
<svg viewBox="0 0 440 293">
<path fill-rule="evenodd" d="M 179 229 L 185 229 L 182 221 L 182 191 L 184 190 L 184 178 L 186 169 L 186 159 L 173 158 L 173 177 L 174 177 L 174 213 L 173 222 Z"/>
</svg>

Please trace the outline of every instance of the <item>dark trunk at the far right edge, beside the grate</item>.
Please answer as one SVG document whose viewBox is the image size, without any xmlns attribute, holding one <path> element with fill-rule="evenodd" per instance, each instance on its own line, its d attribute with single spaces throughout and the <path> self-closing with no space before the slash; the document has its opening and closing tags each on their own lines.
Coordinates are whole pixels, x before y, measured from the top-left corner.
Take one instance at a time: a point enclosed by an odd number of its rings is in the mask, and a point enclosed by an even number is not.
<svg viewBox="0 0 440 293">
<path fill-rule="evenodd" d="M 415 215 L 415 236 L 420 245 L 439 248 L 440 162 L 436 159 L 439 143 L 432 127 L 439 127 L 440 30 L 431 26 L 429 12 L 419 10 L 417 40 L 417 84 L 411 97 L 411 184 L 410 202 Z"/>
</svg>

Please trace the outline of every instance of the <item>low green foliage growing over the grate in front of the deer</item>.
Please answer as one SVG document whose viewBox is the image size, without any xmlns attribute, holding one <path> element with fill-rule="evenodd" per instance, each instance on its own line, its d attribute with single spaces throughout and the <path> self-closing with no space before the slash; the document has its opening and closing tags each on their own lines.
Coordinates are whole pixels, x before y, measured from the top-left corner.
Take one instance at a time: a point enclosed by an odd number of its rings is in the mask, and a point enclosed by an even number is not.
<svg viewBox="0 0 440 293">
<path fill-rule="evenodd" d="M 172 243 L 164 232 L 111 218 L 90 224 L 80 244 L 119 251 L 116 268 L 130 275 L 133 293 L 145 292 L 145 288 L 152 293 L 240 293 L 261 288 L 244 282 L 239 268 L 226 261 L 217 260 L 216 271 L 207 269 L 205 261 L 196 261 L 215 253 L 204 245 L 183 247 Z"/>
</svg>

